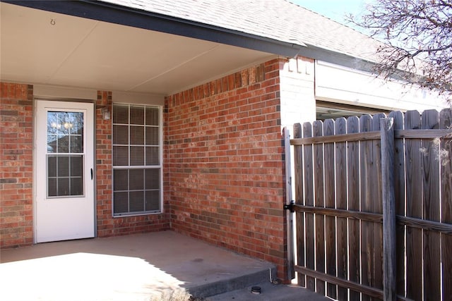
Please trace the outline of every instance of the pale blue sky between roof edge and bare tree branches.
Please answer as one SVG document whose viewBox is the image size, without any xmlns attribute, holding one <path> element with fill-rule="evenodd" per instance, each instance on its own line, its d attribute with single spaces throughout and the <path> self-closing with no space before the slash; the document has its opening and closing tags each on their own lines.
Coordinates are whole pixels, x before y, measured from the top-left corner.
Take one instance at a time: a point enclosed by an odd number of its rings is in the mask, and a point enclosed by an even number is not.
<svg viewBox="0 0 452 301">
<path fill-rule="evenodd" d="M 347 24 L 344 16 L 348 13 L 359 15 L 365 11 L 371 0 L 289 0 L 294 4 L 308 8 L 339 23 Z"/>
</svg>

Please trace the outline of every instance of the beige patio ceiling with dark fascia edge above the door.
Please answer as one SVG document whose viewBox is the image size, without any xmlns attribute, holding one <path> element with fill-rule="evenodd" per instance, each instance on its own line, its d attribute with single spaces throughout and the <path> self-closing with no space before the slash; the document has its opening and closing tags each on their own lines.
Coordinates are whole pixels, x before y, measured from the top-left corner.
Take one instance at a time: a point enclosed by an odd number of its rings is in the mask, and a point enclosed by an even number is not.
<svg viewBox="0 0 452 301">
<path fill-rule="evenodd" d="M 10 82 L 166 95 L 297 52 L 100 2 L 3 1 L 0 13 Z"/>
</svg>

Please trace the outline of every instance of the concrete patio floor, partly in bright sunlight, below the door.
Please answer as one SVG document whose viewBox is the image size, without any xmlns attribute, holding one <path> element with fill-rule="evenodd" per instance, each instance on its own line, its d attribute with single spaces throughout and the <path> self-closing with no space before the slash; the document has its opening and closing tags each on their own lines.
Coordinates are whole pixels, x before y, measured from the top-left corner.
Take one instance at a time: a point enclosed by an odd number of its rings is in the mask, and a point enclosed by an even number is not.
<svg viewBox="0 0 452 301">
<path fill-rule="evenodd" d="M 0 300 L 172 300 L 274 266 L 174 231 L 0 252 Z"/>
</svg>

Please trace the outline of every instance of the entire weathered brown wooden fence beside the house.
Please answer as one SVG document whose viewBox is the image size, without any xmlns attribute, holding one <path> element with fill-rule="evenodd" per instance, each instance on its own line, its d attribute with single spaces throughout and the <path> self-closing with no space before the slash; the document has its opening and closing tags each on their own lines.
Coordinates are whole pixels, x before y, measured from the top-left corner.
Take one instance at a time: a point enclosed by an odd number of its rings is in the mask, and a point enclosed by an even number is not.
<svg viewBox="0 0 452 301">
<path fill-rule="evenodd" d="M 384 114 L 294 125 L 299 284 L 337 300 L 452 300 L 452 110 L 388 117 L 389 144 Z"/>
</svg>

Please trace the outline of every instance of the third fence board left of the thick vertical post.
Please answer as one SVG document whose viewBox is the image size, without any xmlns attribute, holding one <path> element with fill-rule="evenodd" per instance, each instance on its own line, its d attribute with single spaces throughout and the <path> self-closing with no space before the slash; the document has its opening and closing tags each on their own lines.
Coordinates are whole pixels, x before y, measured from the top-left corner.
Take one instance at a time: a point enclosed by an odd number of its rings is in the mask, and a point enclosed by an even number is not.
<svg viewBox="0 0 452 301">
<path fill-rule="evenodd" d="M 359 133 L 359 119 L 347 118 L 347 133 Z M 359 142 L 347 142 L 347 209 L 359 211 Z M 349 280 L 360 281 L 359 271 L 359 220 L 348 219 Z M 361 300 L 361 294 L 350 290 L 350 300 Z"/>
</svg>

